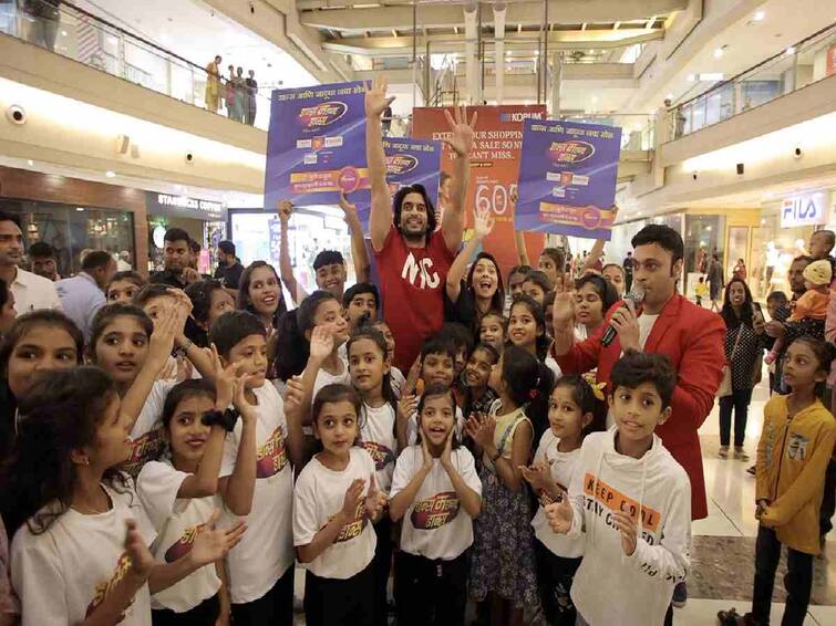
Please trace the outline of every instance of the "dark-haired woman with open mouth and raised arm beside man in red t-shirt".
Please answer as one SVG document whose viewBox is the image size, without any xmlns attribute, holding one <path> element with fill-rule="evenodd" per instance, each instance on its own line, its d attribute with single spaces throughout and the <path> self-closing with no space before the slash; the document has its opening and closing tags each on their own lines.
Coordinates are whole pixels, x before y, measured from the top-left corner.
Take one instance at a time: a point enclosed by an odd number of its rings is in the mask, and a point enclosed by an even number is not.
<svg viewBox="0 0 836 626">
<path fill-rule="evenodd" d="M 448 322 L 458 322 L 471 331 L 478 328 L 485 314 L 502 313 L 505 304 L 503 277 L 499 264 L 492 254 L 479 252 L 471 264 L 467 279 L 462 278 L 467 263 L 493 228 L 494 218 L 489 212 L 476 211 L 473 237 L 456 255 L 447 272 L 444 317 Z"/>
</svg>

